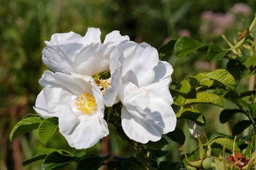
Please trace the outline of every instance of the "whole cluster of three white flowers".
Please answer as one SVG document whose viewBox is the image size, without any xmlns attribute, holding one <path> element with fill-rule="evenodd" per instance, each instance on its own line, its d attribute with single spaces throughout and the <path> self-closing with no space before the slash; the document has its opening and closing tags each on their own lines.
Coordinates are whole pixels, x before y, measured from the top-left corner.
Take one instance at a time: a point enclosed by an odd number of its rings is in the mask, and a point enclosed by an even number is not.
<svg viewBox="0 0 256 170">
<path fill-rule="evenodd" d="M 122 128 L 134 141 L 158 141 L 176 126 L 169 91 L 173 72 L 147 43 L 129 41 L 119 31 L 100 42 L 100 30 L 88 28 L 53 34 L 45 41 L 45 71 L 34 110 L 40 117 L 58 117 L 61 134 L 76 149 L 90 148 L 109 134 L 105 106 L 122 103 Z M 100 73 L 110 71 L 102 80 Z"/>
</svg>

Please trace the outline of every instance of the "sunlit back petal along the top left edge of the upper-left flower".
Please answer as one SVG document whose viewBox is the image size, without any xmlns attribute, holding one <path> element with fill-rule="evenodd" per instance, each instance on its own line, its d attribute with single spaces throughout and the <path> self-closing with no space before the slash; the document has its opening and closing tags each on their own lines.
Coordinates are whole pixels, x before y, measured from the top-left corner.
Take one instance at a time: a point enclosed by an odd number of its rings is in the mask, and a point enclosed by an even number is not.
<svg viewBox="0 0 256 170">
<path fill-rule="evenodd" d="M 79 39 L 82 40 L 82 37 L 75 32 L 67 32 L 67 33 L 58 33 L 53 34 L 51 37 L 51 41 L 45 41 L 45 44 L 48 45 L 61 45 L 65 43 L 78 43 Z M 80 40 L 80 41 L 81 41 Z"/>
</svg>

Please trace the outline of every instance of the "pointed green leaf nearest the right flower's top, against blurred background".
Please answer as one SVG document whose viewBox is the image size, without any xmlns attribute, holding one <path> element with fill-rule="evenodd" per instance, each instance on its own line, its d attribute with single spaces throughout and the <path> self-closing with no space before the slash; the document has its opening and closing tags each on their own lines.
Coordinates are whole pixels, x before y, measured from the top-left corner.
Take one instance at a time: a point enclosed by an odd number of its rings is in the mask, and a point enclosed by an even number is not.
<svg viewBox="0 0 256 170">
<path fill-rule="evenodd" d="M 204 47 L 202 43 L 188 37 L 182 37 L 174 45 L 174 53 L 177 57 L 185 57 L 192 52 Z"/>
</svg>

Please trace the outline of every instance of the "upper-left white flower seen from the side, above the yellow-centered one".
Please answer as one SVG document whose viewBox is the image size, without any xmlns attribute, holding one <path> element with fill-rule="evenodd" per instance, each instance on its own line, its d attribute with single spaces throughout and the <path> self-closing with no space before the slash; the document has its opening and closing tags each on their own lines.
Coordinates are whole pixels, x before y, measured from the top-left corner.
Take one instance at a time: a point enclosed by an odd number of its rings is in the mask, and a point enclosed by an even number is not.
<svg viewBox="0 0 256 170">
<path fill-rule="evenodd" d="M 43 50 L 43 62 L 54 72 L 78 73 L 88 76 L 102 73 L 109 69 L 109 54 L 113 46 L 129 40 L 119 31 L 106 35 L 100 43 L 100 29 L 88 28 L 85 36 L 75 32 L 53 34 L 51 41 Z"/>
</svg>

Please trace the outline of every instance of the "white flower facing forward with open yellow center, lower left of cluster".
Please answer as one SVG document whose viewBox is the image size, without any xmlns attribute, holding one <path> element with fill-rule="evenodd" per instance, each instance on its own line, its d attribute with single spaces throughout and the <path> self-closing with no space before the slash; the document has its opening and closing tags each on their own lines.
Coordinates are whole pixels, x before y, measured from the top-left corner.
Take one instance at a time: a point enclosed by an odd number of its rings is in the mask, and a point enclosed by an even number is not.
<svg viewBox="0 0 256 170">
<path fill-rule="evenodd" d="M 92 77 L 45 71 L 39 83 L 44 89 L 34 110 L 43 118 L 58 117 L 60 132 L 70 146 L 90 148 L 108 135 L 104 98 Z"/>
</svg>

